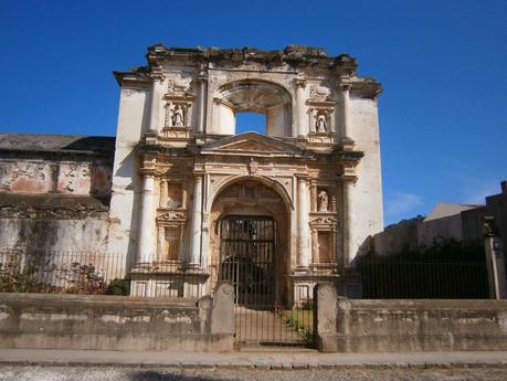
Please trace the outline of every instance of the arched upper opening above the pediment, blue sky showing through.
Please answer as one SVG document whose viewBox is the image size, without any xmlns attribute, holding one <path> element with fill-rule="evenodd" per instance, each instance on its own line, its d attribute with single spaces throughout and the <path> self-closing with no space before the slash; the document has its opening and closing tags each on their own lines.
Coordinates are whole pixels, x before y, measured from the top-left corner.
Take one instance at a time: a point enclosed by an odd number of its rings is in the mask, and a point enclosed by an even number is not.
<svg viewBox="0 0 507 381">
<path fill-rule="evenodd" d="M 291 136 L 291 99 L 284 87 L 271 82 L 243 80 L 228 83 L 214 94 L 210 131 L 235 135 L 254 130 L 266 136 Z M 258 115 L 264 116 L 264 128 Z M 253 126 L 249 126 L 252 121 Z"/>
</svg>

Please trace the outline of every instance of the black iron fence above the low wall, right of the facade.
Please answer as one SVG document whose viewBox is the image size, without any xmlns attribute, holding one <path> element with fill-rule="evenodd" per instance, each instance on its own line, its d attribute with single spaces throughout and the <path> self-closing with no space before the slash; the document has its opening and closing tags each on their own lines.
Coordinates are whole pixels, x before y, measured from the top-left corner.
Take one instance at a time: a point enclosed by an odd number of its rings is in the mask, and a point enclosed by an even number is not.
<svg viewBox="0 0 507 381">
<path fill-rule="evenodd" d="M 357 271 L 368 299 L 488 298 L 485 261 L 366 257 Z"/>
</svg>

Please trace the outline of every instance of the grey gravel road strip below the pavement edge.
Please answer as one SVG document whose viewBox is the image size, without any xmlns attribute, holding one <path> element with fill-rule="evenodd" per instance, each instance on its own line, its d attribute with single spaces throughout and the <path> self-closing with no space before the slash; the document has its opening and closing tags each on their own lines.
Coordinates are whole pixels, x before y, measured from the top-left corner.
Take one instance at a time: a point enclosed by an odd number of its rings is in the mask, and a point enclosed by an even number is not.
<svg viewBox="0 0 507 381">
<path fill-rule="evenodd" d="M 229 370 L 133 367 L 2 366 L 0 380 L 23 381 L 506 381 L 506 368 Z"/>
</svg>

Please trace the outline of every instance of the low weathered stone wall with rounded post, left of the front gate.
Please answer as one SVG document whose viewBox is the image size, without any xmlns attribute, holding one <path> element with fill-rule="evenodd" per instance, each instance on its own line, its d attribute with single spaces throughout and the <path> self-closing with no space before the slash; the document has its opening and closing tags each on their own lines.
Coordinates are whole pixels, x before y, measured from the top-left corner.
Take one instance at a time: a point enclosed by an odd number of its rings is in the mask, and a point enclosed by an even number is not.
<svg viewBox="0 0 507 381">
<path fill-rule="evenodd" d="M 214 298 L 0 294 L 0 347 L 96 350 L 232 350 L 234 295 Z"/>
</svg>

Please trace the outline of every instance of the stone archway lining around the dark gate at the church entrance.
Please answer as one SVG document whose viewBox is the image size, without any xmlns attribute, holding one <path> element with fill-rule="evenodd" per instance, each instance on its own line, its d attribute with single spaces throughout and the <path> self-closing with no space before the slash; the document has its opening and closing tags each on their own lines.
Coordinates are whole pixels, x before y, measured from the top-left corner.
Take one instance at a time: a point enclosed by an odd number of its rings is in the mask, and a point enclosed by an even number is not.
<svg viewBox="0 0 507 381">
<path fill-rule="evenodd" d="M 213 266 L 221 267 L 224 260 L 221 231 L 224 220 L 273 221 L 275 226 L 273 266 L 273 300 L 286 300 L 289 268 L 289 208 L 278 192 L 255 178 L 241 179 L 224 187 L 214 198 L 210 213 L 210 254 Z M 253 222 L 256 226 L 264 226 Z M 262 253 L 261 253 L 262 254 Z M 265 253 L 264 253 L 265 254 Z M 264 255 L 263 254 L 263 255 Z M 229 260 L 236 261 L 237 260 Z"/>
</svg>

